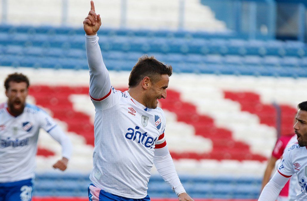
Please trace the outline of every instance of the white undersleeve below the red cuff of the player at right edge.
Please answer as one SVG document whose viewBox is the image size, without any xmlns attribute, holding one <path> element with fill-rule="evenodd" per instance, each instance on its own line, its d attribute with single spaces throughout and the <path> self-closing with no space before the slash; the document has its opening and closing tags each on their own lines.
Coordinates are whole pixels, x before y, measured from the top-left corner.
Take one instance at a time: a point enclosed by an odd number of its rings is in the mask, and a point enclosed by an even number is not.
<svg viewBox="0 0 307 201">
<path fill-rule="evenodd" d="M 284 177 L 276 171 L 272 179 L 263 188 L 258 201 L 275 201 L 288 180 L 289 177 Z"/>
</svg>

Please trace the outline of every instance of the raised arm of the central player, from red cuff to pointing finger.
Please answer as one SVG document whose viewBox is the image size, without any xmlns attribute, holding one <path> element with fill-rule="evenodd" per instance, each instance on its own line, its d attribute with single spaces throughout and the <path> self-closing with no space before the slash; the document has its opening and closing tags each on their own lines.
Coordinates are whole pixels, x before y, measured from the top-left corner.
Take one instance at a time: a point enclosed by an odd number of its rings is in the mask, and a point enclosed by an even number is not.
<svg viewBox="0 0 307 201">
<path fill-rule="evenodd" d="M 99 37 L 97 31 L 101 26 L 100 15 L 95 13 L 94 2 L 91 1 L 91 10 L 83 21 L 86 33 L 86 55 L 90 72 L 90 96 L 93 100 L 102 100 L 111 91 L 109 73 L 103 63 Z"/>
</svg>

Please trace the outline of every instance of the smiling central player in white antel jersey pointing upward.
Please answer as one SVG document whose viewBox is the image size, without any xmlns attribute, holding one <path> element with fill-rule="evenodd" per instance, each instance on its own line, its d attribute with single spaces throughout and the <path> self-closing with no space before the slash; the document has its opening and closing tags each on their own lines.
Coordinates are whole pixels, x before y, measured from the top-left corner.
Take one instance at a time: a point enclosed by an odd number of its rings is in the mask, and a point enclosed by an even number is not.
<svg viewBox="0 0 307 201">
<path fill-rule="evenodd" d="M 93 1 L 83 24 L 96 111 L 89 200 L 150 200 L 147 184 L 153 163 L 179 200 L 193 200 L 175 170 L 164 137 L 164 112 L 157 108 L 158 99 L 166 98 L 172 67 L 143 56 L 130 73 L 129 90 L 117 91 L 103 63 L 97 37 L 101 18 Z"/>
</svg>

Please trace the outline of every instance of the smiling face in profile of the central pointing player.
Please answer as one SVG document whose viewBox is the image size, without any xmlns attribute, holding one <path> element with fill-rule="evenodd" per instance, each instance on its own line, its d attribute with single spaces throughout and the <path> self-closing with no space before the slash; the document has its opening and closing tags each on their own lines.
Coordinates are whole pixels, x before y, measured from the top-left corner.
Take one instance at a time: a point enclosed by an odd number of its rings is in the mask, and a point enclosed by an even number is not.
<svg viewBox="0 0 307 201">
<path fill-rule="evenodd" d="M 169 85 L 169 76 L 161 75 L 161 79 L 152 83 L 150 89 L 144 95 L 144 103 L 146 107 L 155 109 L 158 106 L 158 99 L 166 98 L 166 88 Z"/>
</svg>

